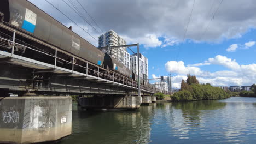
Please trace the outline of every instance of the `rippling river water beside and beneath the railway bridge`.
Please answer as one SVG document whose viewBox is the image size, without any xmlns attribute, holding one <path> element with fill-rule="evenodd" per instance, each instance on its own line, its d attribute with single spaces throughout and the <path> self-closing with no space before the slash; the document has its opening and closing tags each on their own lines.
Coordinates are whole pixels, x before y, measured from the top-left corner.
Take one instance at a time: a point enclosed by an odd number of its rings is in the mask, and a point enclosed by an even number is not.
<svg viewBox="0 0 256 144">
<path fill-rule="evenodd" d="M 60 144 L 256 143 L 256 98 L 154 103 L 133 111 L 78 111 Z"/>
</svg>

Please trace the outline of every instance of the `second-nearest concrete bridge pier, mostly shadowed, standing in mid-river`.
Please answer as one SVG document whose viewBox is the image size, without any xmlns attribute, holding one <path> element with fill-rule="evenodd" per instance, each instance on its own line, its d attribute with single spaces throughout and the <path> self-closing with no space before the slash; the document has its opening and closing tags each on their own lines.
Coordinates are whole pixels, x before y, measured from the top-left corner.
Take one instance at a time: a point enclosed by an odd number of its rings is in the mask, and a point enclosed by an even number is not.
<svg viewBox="0 0 256 144">
<path fill-rule="evenodd" d="M 141 98 L 124 97 L 123 95 L 81 97 L 78 104 L 85 109 L 137 109 L 141 105 Z"/>
</svg>

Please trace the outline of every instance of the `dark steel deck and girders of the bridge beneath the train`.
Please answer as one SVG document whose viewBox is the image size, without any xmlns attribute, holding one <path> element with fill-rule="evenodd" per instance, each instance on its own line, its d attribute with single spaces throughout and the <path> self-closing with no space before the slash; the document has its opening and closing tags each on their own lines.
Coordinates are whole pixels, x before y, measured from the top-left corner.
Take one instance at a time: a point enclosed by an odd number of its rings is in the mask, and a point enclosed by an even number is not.
<svg viewBox="0 0 256 144">
<path fill-rule="evenodd" d="M 4 39 L 4 38 L 0 37 L 0 39 Z M 4 39 L 4 40 L 7 40 L 7 39 Z M 15 43 L 15 45 L 21 45 L 21 44 Z M 25 47 L 27 49 L 34 50 L 31 47 L 27 47 L 27 46 Z M 56 49 L 56 51 L 58 50 Z M 97 93 L 97 94 L 130 94 L 130 95 L 137 94 L 138 88 L 136 86 L 136 83 L 135 82 L 125 83 L 124 78 L 123 80 L 121 80 L 121 77 L 123 77 L 121 75 L 118 76 L 118 80 L 114 78 L 115 79 L 114 81 L 113 77 L 112 77 L 113 80 L 109 80 L 108 75 L 100 72 L 100 69 L 102 70 L 102 68 L 100 67 L 98 67 L 98 70 L 96 71 L 98 76 L 88 74 L 88 71 L 90 70 L 88 67 L 83 67 L 85 68 L 86 71 L 85 73 L 80 73 L 79 71 L 75 71 L 73 69 L 74 65 L 77 65 L 74 62 L 72 62 L 72 69 L 62 68 L 56 65 L 56 59 L 60 59 L 60 58 L 57 57 L 57 55 L 53 57 L 55 58 L 55 65 L 45 63 L 45 62 L 40 62 L 27 57 L 15 55 L 14 52 L 10 53 L 6 51 L 0 51 L 1 64 L 9 63 L 14 65 L 20 65 L 21 67 L 24 67 L 24 68 L 35 69 L 36 70 L 35 73 L 53 73 L 54 76 L 56 77 L 62 76 L 62 79 L 63 79 L 63 76 L 65 76 L 65 81 L 60 81 L 60 80 L 51 81 L 50 87 L 41 86 L 36 89 L 37 92 L 42 91 L 42 92 L 63 92 L 63 93 L 92 93 L 92 94 Z M 89 62 L 86 62 L 87 65 L 88 63 Z M 102 78 L 100 77 L 100 74 L 106 75 L 106 76 Z M 0 77 L 0 80 L 8 80 L 8 81 L 20 81 L 20 79 L 22 79 L 22 77 L 18 77 L 18 79 L 15 79 L 14 77 L 11 77 L 11 76 L 3 77 L 1 75 Z M 79 82 L 74 82 L 75 80 L 79 80 Z M 82 82 L 83 85 L 82 83 L 80 83 L 81 81 L 83 81 Z M 0 88 L 8 88 L 11 90 L 21 90 L 24 87 L 20 87 L 18 85 L 14 86 L 13 84 L 8 85 L 7 82 L 2 82 L 2 83 L 0 82 Z M 30 88 L 26 87 L 26 89 L 30 89 Z M 155 93 L 153 89 L 152 91 L 148 91 L 143 88 L 141 89 L 141 92 L 144 94 Z"/>
</svg>

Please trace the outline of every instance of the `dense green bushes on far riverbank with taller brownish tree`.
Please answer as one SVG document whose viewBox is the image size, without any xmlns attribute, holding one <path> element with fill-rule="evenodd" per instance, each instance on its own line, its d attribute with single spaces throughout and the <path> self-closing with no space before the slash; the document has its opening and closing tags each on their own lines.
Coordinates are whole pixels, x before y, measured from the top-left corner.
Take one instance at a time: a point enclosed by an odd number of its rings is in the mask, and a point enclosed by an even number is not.
<svg viewBox="0 0 256 144">
<path fill-rule="evenodd" d="M 182 80 L 181 91 L 174 93 L 171 98 L 173 101 L 192 101 L 225 99 L 230 96 L 222 88 L 213 87 L 210 83 L 200 85 L 196 76 L 188 75 L 186 82 Z"/>
</svg>

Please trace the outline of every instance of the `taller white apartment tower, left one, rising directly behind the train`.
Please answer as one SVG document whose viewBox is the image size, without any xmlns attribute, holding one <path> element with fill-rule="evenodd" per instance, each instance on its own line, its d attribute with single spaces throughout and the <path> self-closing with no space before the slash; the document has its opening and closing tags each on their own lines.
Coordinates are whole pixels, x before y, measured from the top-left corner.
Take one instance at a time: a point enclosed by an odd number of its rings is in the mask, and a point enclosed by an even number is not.
<svg viewBox="0 0 256 144">
<path fill-rule="evenodd" d="M 107 46 L 119 46 L 126 45 L 126 41 L 122 39 L 115 31 L 110 30 L 98 37 L 98 48 Z M 104 48 L 103 52 L 117 59 L 117 61 L 123 63 L 125 67 L 130 68 L 130 53 L 127 52 L 126 47 L 119 48 Z"/>
</svg>

